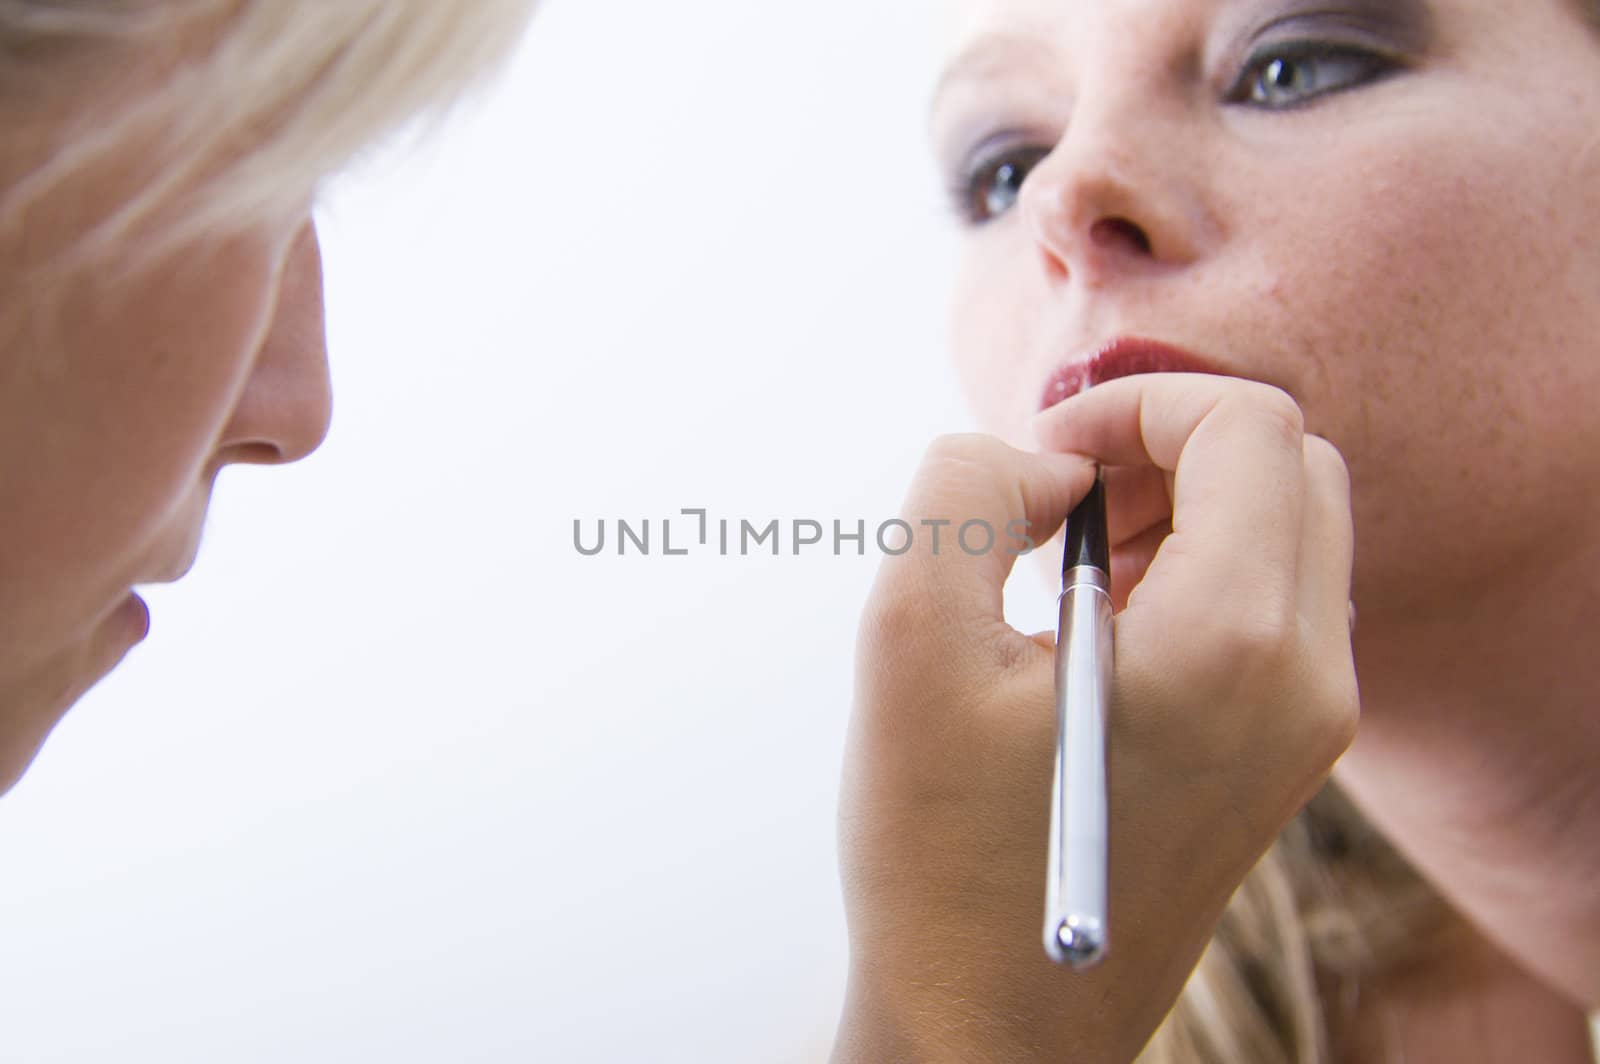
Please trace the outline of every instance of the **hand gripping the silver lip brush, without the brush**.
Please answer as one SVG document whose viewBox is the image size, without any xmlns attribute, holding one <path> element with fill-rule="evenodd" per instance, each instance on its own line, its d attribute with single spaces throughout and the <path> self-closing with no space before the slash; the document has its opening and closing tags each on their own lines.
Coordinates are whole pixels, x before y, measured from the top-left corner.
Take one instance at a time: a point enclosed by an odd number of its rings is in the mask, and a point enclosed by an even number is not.
<svg viewBox="0 0 1600 1064">
<path fill-rule="evenodd" d="M 936 442 L 902 517 L 1043 541 L 1107 466 L 1112 579 L 1138 579 L 1115 621 L 1109 955 L 1070 971 L 1040 944 L 1053 638 L 1005 622 L 1003 546 L 918 539 L 858 640 L 835 1064 L 1131 1061 L 1355 733 L 1349 480 L 1288 395 L 1136 376 L 1035 427 L 1045 454 Z"/>
</svg>

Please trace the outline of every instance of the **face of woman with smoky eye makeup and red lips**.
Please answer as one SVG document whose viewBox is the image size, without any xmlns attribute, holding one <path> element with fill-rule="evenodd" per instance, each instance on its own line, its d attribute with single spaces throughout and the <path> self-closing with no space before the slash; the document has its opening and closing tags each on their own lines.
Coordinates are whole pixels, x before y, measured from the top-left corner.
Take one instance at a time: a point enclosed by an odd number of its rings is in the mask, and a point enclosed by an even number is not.
<svg viewBox="0 0 1600 1064">
<path fill-rule="evenodd" d="M 947 16 L 933 128 L 965 227 L 954 344 L 986 429 L 1027 445 L 1061 368 L 1118 338 L 1286 389 L 1350 464 L 1363 629 L 1590 549 L 1600 35 L 1573 6 Z"/>
</svg>

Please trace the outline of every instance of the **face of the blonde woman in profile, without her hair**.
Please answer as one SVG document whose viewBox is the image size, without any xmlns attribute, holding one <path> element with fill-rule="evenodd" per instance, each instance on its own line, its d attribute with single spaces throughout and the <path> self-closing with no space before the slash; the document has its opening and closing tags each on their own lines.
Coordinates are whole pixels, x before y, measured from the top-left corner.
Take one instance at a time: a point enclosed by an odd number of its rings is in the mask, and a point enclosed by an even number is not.
<svg viewBox="0 0 1600 1064">
<path fill-rule="evenodd" d="M 328 426 L 306 216 L 120 277 L 133 242 L 48 299 L 29 291 L 131 192 L 110 168 L 0 235 L 0 792 L 144 637 L 131 589 L 187 571 L 218 470 L 302 458 Z"/>
</svg>

